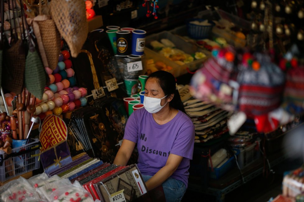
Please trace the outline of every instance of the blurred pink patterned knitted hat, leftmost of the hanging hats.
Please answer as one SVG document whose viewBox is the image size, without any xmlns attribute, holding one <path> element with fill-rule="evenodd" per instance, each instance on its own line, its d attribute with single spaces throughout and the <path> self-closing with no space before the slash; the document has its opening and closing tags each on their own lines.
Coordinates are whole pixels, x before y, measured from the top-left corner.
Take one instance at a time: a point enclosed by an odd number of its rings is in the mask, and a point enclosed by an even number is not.
<svg viewBox="0 0 304 202">
<path fill-rule="evenodd" d="M 208 59 L 192 77 L 191 92 L 194 97 L 233 110 L 233 84 L 236 78 L 235 50 L 228 46 L 214 48 Z"/>
</svg>

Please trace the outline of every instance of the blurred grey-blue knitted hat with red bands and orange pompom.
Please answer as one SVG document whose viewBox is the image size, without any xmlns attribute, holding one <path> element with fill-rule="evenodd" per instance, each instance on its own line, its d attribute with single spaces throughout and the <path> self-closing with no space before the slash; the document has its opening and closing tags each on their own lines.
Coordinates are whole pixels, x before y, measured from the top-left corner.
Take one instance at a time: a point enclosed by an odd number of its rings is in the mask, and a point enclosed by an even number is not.
<svg viewBox="0 0 304 202">
<path fill-rule="evenodd" d="M 249 117 L 271 112 L 282 101 L 284 74 L 266 54 L 246 58 L 237 76 L 239 110 Z"/>
</svg>

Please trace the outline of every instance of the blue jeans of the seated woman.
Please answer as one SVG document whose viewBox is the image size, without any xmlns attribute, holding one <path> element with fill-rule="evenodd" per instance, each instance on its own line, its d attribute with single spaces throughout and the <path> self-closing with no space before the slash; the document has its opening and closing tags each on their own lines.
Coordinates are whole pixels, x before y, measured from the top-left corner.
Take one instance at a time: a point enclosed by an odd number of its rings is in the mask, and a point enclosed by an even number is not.
<svg viewBox="0 0 304 202">
<path fill-rule="evenodd" d="M 142 175 L 142 178 L 147 182 L 152 176 Z M 168 178 L 163 182 L 163 190 L 166 198 L 166 202 L 179 202 L 182 200 L 186 192 L 185 184 L 177 179 Z"/>
</svg>

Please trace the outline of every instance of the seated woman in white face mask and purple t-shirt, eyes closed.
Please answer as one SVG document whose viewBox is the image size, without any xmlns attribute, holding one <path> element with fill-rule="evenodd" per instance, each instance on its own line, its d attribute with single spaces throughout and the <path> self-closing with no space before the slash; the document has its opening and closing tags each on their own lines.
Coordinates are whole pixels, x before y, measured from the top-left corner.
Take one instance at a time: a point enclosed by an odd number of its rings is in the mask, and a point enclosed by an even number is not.
<svg viewBox="0 0 304 202">
<path fill-rule="evenodd" d="M 137 143 L 137 166 L 148 190 L 162 184 L 166 201 L 180 201 L 188 186 L 194 136 L 175 78 L 154 72 L 146 79 L 144 108 L 127 121 L 114 164 L 127 165 Z"/>
</svg>

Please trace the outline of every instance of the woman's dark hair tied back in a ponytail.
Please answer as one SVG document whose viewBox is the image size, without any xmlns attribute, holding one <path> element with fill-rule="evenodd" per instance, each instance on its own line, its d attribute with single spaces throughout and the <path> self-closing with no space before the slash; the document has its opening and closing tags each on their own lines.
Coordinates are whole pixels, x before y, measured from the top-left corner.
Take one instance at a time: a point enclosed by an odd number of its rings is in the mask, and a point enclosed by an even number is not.
<svg viewBox="0 0 304 202">
<path fill-rule="evenodd" d="M 156 78 L 158 80 L 159 86 L 163 89 L 165 95 L 174 94 L 173 99 L 169 102 L 171 107 L 186 113 L 181 96 L 176 89 L 175 78 L 171 73 L 162 70 L 153 72 L 146 78 L 145 82 L 149 78 Z"/>
</svg>

